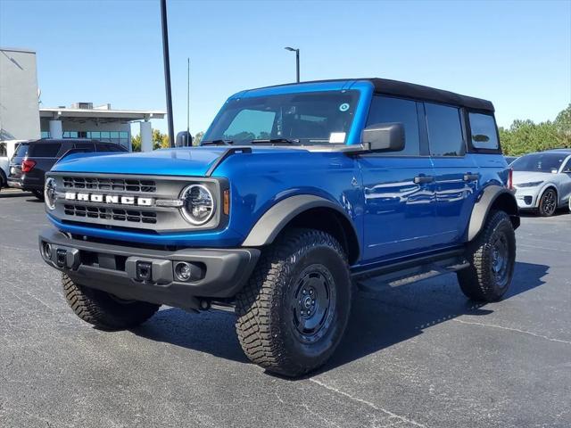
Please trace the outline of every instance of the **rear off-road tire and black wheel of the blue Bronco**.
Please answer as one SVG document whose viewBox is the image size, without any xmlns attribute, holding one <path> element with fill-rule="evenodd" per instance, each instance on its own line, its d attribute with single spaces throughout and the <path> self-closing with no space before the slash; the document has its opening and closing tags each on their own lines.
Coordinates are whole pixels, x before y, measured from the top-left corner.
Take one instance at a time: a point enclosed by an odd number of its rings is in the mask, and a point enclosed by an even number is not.
<svg viewBox="0 0 571 428">
<path fill-rule="evenodd" d="M 494 273 L 494 268 L 498 266 L 497 258 L 494 259 L 498 240 L 505 243 L 501 247 L 507 250 L 506 268 L 501 271 L 501 279 Z M 504 211 L 490 212 L 484 229 L 468 245 L 467 259 L 470 267 L 458 272 L 462 292 L 472 300 L 500 300 L 509 289 L 516 263 L 516 234 L 508 214 Z"/>
</svg>

